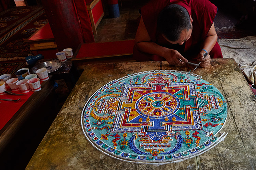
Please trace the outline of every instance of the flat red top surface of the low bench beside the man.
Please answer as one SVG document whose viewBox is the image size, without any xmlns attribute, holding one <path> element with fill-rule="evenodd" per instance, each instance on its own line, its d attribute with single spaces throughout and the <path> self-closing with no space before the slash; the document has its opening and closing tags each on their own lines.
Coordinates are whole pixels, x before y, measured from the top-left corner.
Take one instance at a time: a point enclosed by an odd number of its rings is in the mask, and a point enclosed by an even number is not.
<svg viewBox="0 0 256 170">
<path fill-rule="evenodd" d="M 132 53 L 133 40 L 82 44 L 75 58 L 115 56 Z"/>
</svg>

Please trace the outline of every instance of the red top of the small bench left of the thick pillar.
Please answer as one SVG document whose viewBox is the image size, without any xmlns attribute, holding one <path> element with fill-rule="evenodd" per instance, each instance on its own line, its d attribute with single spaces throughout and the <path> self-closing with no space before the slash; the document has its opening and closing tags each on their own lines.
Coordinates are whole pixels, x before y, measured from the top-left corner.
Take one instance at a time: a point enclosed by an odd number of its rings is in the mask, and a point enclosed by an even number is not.
<svg viewBox="0 0 256 170">
<path fill-rule="evenodd" d="M 52 29 L 50 24 L 45 24 L 37 33 L 35 33 L 31 38 L 28 40 L 39 40 L 39 39 L 51 39 L 54 38 Z"/>
</svg>

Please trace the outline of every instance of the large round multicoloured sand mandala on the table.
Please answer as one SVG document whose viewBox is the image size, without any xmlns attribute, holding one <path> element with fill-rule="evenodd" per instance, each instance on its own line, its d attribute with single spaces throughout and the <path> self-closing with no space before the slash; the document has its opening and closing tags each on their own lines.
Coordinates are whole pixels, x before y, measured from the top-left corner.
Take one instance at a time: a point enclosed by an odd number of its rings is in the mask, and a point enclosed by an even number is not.
<svg viewBox="0 0 256 170">
<path fill-rule="evenodd" d="M 179 162 L 224 140 L 223 95 L 201 76 L 175 70 L 128 75 L 87 101 L 81 124 L 90 143 L 117 159 Z"/>
</svg>

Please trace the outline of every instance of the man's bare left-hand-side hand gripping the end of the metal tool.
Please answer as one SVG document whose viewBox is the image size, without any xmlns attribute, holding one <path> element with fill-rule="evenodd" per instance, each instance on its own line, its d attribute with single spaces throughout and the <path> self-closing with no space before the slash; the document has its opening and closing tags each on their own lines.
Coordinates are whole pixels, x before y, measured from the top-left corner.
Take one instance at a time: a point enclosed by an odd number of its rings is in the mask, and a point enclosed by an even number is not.
<svg viewBox="0 0 256 170">
<path fill-rule="evenodd" d="M 188 62 L 187 59 L 184 58 L 177 50 L 169 49 L 164 57 L 171 65 L 184 64 Z"/>
</svg>

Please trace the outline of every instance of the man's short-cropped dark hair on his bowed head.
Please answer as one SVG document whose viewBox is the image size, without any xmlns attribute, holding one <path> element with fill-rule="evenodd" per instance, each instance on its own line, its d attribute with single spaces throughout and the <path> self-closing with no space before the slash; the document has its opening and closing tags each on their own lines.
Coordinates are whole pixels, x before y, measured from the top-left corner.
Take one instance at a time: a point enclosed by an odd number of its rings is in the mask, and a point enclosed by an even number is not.
<svg viewBox="0 0 256 170">
<path fill-rule="evenodd" d="M 157 28 L 168 40 L 177 41 L 184 29 L 191 29 L 187 10 L 177 4 L 166 6 L 158 16 Z"/>
</svg>

